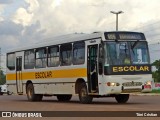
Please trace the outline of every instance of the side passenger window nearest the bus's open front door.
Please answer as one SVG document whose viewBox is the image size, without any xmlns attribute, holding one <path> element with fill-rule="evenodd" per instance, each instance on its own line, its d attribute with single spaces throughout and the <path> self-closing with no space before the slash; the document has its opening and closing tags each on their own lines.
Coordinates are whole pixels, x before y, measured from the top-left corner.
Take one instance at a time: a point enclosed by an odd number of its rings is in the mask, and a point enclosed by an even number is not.
<svg viewBox="0 0 160 120">
<path fill-rule="evenodd" d="M 73 45 L 73 64 L 84 64 L 85 61 L 85 43 L 77 42 Z"/>
</svg>

